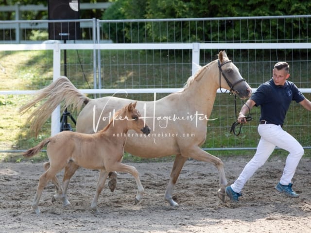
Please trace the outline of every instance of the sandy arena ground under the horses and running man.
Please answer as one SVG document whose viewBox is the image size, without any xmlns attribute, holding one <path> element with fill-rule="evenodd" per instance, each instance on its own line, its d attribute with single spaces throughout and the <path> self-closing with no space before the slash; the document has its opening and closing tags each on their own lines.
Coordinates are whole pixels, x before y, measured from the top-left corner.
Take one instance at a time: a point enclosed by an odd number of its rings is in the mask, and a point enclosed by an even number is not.
<svg viewBox="0 0 311 233">
<path fill-rule="evenodd" d="M 223 159 L 226 177 L 232 183 L 249 158 Z M 69 184 L 71 205 L 52 203 L 54 186 L 49 183 L 41 197 L 41 214 L 35 215 L 31 202 L 35 195 L 42 163 L 0 163 L 0 232 L 2 233 L 308 233 L 311 232 L 311 159 L 303 158 L 294 176 L 292 199 L 279 194 L 285 158 L 272 157 L 259 168 L 243 189 L 239 203 L 216 195 L 217 169 L 189 160 L 174 189 L 179 203 L 173 208 L 164 200 L 173 162 L 139 163 L 145 194 L 135 205 L 136 183 L 120 173 L 117 189 L 105 188 L 99 198 L 101 213 L 90 209 L 98 171 L 80 168 Z M 62 179 L 62 174 L 59 174 Z"/>
</svg>

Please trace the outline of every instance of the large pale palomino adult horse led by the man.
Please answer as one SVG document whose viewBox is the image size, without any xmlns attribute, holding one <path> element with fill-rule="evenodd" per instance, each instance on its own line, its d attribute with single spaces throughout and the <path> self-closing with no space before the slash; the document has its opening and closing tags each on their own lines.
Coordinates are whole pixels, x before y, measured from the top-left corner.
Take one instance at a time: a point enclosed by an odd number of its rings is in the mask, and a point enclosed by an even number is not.
<svg viewBox="0 0 311 233">
<path fill-rule="evenodd" d="M 213 108 L 217 89 L 220 87 L 230 90 L 241 99 L 250 97 L 252 92 L 225 51 L 220 51 L 217 60 L 201 67 L 194 76 L 191 76 L 182 91 L 156 101 L 137 103 L 137 108 L 143 113 L 146 123 L 152 126 L 152 133 L 143 138 L 138 135 L 128 137 L 124 150 L 143 158 L 176 155 L 165 193 L 165 200 L 172 206 L 178 205 L 172 198 L 173 187 L 188 158 L 212 163 L 217 167 L 221 186 L 217 195 L 225 201 L 227 181 L 223 162 L 200 148 L 206 140 L 208 117 Z M 47 100 L 38 106 L 29 118 L 29 121 L 32 121 L 32 130 L 36 134 L 62 101 L 65 102 L 65 106 L 72 104 L 77 109 L 85 104 L 77 118 L 76 129 L 81 133 L 96 132 L 108 123 L 113 109 L 133 101 L 116 97 L 89 99 L 66 77 L 61 77 L 39 90 L 37 97 L 20 111 L 28 110 L 43 99 Z M 74 163 L 69 163 L 65 169 L 65 183 L 69 183 L 70 177 L 78 167 Z M 116 174 L 114 176 L 116 177 Z"/>
</svg>

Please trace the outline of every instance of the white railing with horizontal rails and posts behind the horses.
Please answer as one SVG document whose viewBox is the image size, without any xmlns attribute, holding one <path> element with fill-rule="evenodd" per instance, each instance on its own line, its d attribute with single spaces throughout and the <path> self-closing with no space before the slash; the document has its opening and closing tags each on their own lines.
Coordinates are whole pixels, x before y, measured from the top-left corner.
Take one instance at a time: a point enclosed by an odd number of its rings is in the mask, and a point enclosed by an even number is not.
<svg viewBox="0 0 311 233">
<path fill-rule="evenodd" d="M 62 50 L 192 50 L 192 74 L 194 74 L 199 64 L 200 49 L 311 49 L 311 43 L 232 43 L 232 44 L 207 44 L 207 43 L 165 43 L 165 44 L 61 44 L 54 41 L 53 44 L 19 44 L 0 45 L 2 51 L 16 50 L 53 50 L 53 80 L 61 75 L 61 51 Z M 84 89 L 82 93 L 114 94 L 119 91 L 126 93 L 172 93 L 179 88 L 146 88 L 146 89 Z M 256 89 L 254 89 L 256 90 Z M 310 88 L 301 89 L 303 93 L 311 93 Z M 220 92 L 220 90 L 219 90 Z M 33 94 L 34 91 L 0 91 L 0 94 Z M 52 114 L 51 134 L 60 131 L 60 106 Z"/>
</svg>

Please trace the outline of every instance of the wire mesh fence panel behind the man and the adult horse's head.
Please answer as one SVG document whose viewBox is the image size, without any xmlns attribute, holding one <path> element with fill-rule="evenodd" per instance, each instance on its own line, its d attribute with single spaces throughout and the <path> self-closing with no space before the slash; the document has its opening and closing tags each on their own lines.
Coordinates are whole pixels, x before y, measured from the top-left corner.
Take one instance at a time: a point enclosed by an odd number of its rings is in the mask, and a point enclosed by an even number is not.
<svg viewBox="0 0 311 233">
<path fill-rule="evenodd" d="M 113 43 L 283 43 L 284 49 L 226 50 L 240 69 L 243 78 L 253 87 L 268 81 L 276 62 L 286 61 L 291 67 L 290 81 L 299 88 L 310 88 L 309 49 L 287 48 L 286 43 L 309 43 L 310 16 L 236 17 L 151 20 L 99 20 L 98 41 Z M 134 45 L 133 45 L 134 48 Z M 217 50 L 200 50 L 200 64 L 217 58 Z M 120 50 L 101 51 L 101 74 L 104 88 L 169 88 L 182 87 L 191 75 L 189 50 Z M 118 79 L 118 80 L 116 80 Z M 309 93 L 305 93 L 309 97 Z M 242 104 L 242 103 L 241 103 Z M 238 110 L 241 108 L 238 105 Z M 294 117 L 299 112 L 299 116 Z M 252 110 L 254 120 L 243 126 L 242 135 L 229 133 L 235 121 L 234 98 L 217 94 L 207 125 L 207 141 L 203 147 L 213 149 L 254 148 L 259 141 L 257 124 L 259 109 Z M 298 123 L 299 122 L 299 123 Z M 293 102 L 285 127 L 305 147 L 310 144 L 309 112 Z M 304 133 L 301 133 L 304 132 Z M 241 138 L 243 140 L 241 140 Z"/>
</svg>

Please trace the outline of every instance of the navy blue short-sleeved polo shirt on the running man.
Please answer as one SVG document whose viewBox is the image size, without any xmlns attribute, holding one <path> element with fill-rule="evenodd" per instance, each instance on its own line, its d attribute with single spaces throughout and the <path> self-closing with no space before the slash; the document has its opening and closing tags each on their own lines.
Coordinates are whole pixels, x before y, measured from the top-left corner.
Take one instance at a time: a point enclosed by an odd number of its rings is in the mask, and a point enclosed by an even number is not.
<svg viewBox="0 0 311 233">
<path fill-rule="evenodd" d="M 304 100 L 304 95 L 297 86 L 290 81 L 286 81 L 283 86 L 277 86 L 273 79 L 259 85 L 250 100 L 260 105 L 259 120 L 266 120 L 267 123 L 283 125 L 285 115 L 292 100 L 297 103 Z"/>
</svg>

